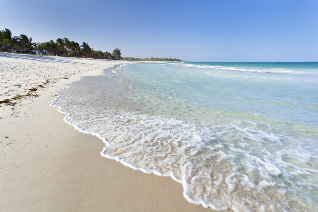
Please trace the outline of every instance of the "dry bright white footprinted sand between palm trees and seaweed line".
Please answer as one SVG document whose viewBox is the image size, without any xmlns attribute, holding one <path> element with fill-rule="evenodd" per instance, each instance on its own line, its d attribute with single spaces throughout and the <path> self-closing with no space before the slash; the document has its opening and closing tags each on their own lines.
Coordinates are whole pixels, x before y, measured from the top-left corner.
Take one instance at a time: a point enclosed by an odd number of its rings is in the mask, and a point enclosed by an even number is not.
<svg viewBox="0 0 318 212">
<path fill-rule="evenodd" d="M 0 52 L 0 101 L 23 96 L 11 101 L 21 104 L 22 100 L 35 97 L 42 86 L 53 86 L 59 79 L 82 76 L 88 71 L 94 75 L 91 71 L 122 63 L 129 62 Z M 32 88 L 37 91 L 32 92 Z M 14 109 L 2 111 L 1 115 L 12 116 Z"/>
</svg>

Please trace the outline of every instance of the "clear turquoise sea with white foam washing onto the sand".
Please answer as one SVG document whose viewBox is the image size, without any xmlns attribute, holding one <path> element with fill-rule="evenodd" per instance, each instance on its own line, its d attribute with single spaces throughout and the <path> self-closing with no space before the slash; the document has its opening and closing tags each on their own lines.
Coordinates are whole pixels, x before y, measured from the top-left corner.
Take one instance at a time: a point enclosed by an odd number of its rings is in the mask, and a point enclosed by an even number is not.
<svg viewBox="0 0 318 212">
<path fill-rule="evenodd" d="M 171 176 L 205 207 L 318 211 L 318 62 L 113 69 L 52 102 L 101 155 Z"/>
</svg>

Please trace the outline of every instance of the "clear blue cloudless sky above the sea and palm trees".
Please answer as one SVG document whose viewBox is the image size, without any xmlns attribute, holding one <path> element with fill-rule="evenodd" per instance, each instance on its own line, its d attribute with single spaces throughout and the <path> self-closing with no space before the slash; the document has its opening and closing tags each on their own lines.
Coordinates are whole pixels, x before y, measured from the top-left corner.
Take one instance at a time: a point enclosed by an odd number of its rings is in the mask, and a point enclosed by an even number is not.
<svg viewBox="0 0 318 212">
<path fill-rule="evenodd" d="M 0 29 L 33 42 L 66 37 L 135 58 L 318 61 L 317 0 L 0 2 Z"/>
</svg>

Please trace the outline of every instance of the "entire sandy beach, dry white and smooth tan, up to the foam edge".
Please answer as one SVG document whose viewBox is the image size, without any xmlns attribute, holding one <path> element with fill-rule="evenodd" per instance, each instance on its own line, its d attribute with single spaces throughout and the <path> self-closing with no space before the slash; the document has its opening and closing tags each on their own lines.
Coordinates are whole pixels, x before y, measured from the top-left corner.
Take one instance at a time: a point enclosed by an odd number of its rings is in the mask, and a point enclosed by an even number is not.
<svg viewBox="0 0 318 212">
<path fill-rule="evenodd" d="M 211 211 L 170 177 L 100 156 L 104 143 L 49 105 L 65 84 L 122 63 L 0 52 L 0 101 L 22 96 L 0 104 L 0 211 Z"/>
</svg>

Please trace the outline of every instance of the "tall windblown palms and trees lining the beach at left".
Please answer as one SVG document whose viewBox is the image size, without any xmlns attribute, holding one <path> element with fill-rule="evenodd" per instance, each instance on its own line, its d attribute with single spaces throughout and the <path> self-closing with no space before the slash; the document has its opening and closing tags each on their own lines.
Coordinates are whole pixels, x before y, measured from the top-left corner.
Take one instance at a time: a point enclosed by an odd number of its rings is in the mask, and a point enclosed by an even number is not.
<svg viewBox="0 0 318 212">
<path fill-rule="evenodd" d="M 98 59 L 122 59 L 121 50 L 115 48 L 112 53 L 106 51 L 95 51 L 89 47 L 88 43 L 83 42 L 81 45 L 68 38 L 58 38 L 56 42 L 50 40 L 44 43 L 32 43 L 32 38 L 21 34 L 13 36 L 9 29 L 0 30 L 0 48 L 10 52 L 29 52 L 38 51 L 44 55 L 58 55 L 64 57 L 84 57 Z M 34 51 L 34 52 L 33 52 Z"/>
</svg>

